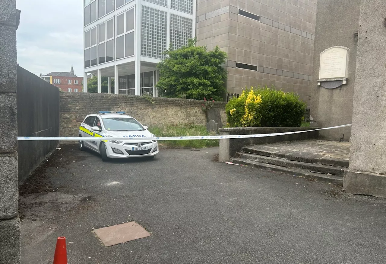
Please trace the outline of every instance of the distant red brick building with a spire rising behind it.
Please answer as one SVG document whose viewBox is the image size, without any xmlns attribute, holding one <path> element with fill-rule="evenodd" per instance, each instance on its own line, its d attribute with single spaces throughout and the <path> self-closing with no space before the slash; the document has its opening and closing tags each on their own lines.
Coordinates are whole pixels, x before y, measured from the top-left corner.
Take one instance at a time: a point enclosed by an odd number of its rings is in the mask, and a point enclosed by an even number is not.
<svg viewBox="0 0 386 264">
<path fill-rule="evenodd" d="M 63 92 L 83 92 L 83 77 L 76 76 L 72 66 L 70 72 L 41 73 L 40 78 Z"/>
</svg>

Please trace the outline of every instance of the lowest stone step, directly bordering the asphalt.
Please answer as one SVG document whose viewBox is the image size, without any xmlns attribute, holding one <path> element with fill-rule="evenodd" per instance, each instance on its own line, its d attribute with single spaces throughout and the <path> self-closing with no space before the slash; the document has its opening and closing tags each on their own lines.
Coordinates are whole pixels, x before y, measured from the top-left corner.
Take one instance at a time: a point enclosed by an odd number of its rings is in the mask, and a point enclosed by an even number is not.
<svg viewBox="0 0 386 264">
<path fill-rule="evenodd" d="M 249 165 L 249 166 L 252 166 L 252 167 L 258 168 L 258 169 L 283 172 L 283 173 L 295 175 L 298 177 L 305 177 L 305 178 L 311 179 L 311 180 L 330 182 L 330 183 L 336 184 L 338 186 L 343 186 L 343 177 L 339 177 L 339 176 L 319 174 L 319 173 L 314 173 L 314 172 L 307 172 L 305 170 L 290 169 L 290 168 L 286 168 L 286 167 L 282 167 L 282 166 L 265 164 L 265 163 L 260 163 L 260 162 L 256 162 L 256 161 L 252 161 L 252 160 L 245 160 L 243 158 L 233 158 L 232 162 L 235 164 Z"/>
</svg>

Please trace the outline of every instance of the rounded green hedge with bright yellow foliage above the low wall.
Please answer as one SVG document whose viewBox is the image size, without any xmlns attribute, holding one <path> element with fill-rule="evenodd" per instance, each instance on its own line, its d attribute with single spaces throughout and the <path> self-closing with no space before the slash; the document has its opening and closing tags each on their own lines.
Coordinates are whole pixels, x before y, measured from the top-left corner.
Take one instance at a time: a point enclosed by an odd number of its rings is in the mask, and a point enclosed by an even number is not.
<svg viewBox="0 0 386 264">
<path fill-rule="evenodd" d="M 306 103 L 293 92 L 274 87 L 245 89 L 239 98 L 232 98 L 225 107 L 229 127 L 301 126 Z"/>
</svg>

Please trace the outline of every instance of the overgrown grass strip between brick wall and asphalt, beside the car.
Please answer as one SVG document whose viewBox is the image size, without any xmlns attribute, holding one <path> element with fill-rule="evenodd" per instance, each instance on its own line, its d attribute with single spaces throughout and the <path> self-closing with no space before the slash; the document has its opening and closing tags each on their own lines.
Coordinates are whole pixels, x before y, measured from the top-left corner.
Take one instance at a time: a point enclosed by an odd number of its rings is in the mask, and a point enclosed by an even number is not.
<svg viewBox="0 0 386 264">
<path fill-rule="evenodd" d="M 153 126 L 149 131 L 156 136 L 212 136 L 215 132 L 208 132 L 205 126 L 196 125 L 174 125 L 174 126 Z M 206 148 L 218 146 L 217 139 L 203 140 L 161 140 L 160 146 L 182 147 L 182 148 Z"/>
</svg>

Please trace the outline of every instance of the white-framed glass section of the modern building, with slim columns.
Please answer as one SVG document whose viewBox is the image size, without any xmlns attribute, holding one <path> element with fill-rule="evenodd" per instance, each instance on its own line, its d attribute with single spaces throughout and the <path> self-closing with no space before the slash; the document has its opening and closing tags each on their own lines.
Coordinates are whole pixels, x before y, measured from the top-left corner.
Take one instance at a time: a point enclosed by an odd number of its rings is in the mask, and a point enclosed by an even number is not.
<svg viewBox="0 0 386 264">
<path fill-rule="evenodd" d="M 195 36 L 195 9 L 196 0 L 84 0 L 84 76 L 98 76 L 98 92 L 107 76 L 109 93 L 156 96 L 156 64 Z"/>
</svg>

